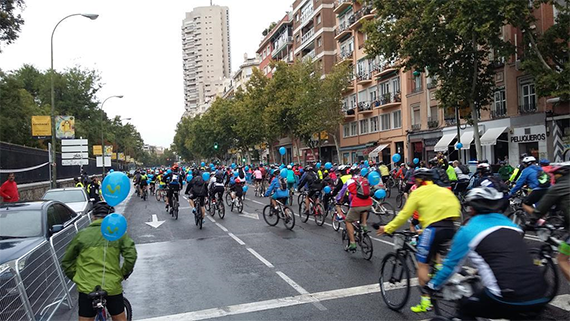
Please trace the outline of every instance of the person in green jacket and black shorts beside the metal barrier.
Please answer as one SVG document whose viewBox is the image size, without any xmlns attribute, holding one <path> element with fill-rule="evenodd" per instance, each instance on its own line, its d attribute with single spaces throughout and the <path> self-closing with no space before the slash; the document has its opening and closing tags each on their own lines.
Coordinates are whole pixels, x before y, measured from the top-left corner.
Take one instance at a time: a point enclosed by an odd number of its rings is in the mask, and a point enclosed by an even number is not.
<svg viewBox="0 0 570 321">
<path fill-rule="evenodd" d="M 121 282 L 133 272 L 137 250 L 127 234 L 113 242 L 103 238 L 101 223 L 105 216 L 114 211 L 105 202 L 97 203 L 93 208 L 93 223 L 75 235 L 61 262 L 65 275 L 77 284 L 79 321 L 95 319 L 97 311 L 93 309 L 89 293 L 98 285 L 107 291 L 107 310 L 113 320 L 127 320 Z"/>
</svg>

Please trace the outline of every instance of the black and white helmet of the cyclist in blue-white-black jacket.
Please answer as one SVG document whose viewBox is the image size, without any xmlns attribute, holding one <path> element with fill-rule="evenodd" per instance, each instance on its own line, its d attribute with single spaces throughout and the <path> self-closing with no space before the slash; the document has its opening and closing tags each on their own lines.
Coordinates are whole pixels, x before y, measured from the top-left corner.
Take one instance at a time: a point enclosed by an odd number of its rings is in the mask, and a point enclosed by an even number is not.
<svg viewBox="0 0 570 321">
<path fill-rule="evenodd" d="M 475 187 L 467 196 L 465 202 L 477 214 L 501 213 L 509 206 L 508 198 L 492 187 Z"/>
</svg>

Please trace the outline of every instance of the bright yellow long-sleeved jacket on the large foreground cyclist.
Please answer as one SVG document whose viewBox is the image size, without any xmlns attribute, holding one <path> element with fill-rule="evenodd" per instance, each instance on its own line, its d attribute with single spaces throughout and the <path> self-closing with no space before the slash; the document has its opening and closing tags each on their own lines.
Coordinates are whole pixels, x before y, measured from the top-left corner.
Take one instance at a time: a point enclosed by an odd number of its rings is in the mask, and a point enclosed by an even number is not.
<svg viewBox="0 0 570 321">
<path fill-rule="evenodd" d="M 406 205 L 386 225 L 385 232 L 392 234 L 398 227 L 406 223 L 415 211 L 420 214 L 422 228 L 426 228 L 448 218 L 459 218 L 461 216 L 461 205 L 455 194 L 449 189 L 439 187 L 432 182 L 426 182 L 426 185 L 420 186 L 413 193 L 410 193 Z"/>
</svg>

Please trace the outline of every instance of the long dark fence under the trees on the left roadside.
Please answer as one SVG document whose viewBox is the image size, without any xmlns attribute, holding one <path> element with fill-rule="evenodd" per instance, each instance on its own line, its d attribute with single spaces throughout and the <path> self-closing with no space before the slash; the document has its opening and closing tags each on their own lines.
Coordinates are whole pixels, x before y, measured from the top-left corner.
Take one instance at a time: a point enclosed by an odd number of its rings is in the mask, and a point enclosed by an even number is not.
<svg viewBox="0 0 570 321">
<path fill-rule="evenodd" d="M 48 160 L 49 155 L 47 150 L 0 142 L 0 170 L 34 167 L 44 164 L 48 162 Z M 127 168 L 126 164 L 119 162 L 112 162 L 111 165 L 111 168 L 114 170 L 124 170 Z M 93 158 L 89 159 L 89 165 L 83 166 L 83 169 L 89 175 L 101 173 L 101 168 L 97 167 L 97 162 Z M 62 166 L 61 153 L 57 153 L 57 179 L 79 176 L 79 171 L 79 166 Z M 5 181 L 7 175 L 8 174 L 0 174 L 0 182 Z M 17 173 L 16 177 L 18 184 L 49 180 L 48 165 L 31 171 Z"/>
</svg>

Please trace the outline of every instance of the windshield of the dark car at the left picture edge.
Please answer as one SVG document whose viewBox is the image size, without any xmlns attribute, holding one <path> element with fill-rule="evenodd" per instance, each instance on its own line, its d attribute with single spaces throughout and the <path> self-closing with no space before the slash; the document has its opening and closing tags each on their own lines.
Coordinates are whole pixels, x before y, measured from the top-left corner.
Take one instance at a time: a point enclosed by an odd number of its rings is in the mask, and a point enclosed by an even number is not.
<svg viewBox="0 0 570 321">
<path fill-rule="evenodd" d="M 0 239 L 42 235 L 41 210 L 0 210 Z"/>
</svg>

